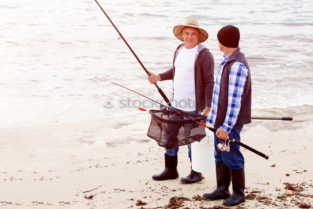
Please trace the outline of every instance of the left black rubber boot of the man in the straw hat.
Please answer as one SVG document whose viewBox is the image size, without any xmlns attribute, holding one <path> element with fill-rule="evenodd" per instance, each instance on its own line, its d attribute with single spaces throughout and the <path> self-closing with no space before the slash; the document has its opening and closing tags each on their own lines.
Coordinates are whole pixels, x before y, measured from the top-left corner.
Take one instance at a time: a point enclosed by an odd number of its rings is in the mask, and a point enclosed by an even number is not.
<svg viewBox="0 0 313 209">
<path fill-rule="evenodd" d="M 156 174 L 152 176 L 153 180 L 162 181 L 167 179 L 176 179 L 178 178 L 177 171 L 177 155 L 169 156 L 164 153 L 165 158 L 165 169 L 160 174 Z"/>
</svg>

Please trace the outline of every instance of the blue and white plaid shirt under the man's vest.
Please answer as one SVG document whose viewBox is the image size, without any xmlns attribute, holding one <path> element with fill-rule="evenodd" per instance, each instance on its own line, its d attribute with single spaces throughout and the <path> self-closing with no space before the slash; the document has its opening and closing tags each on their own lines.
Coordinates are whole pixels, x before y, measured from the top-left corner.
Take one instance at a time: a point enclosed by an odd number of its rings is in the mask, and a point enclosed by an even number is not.
<svg viewBox="0 0 313 209">
<path fill-rule="evenodd" d="M 214 84 L 213 99 L 211 111 L 208 114 L 207 122 L 214 124 L 218 111 L 218 95 L 221 84 L 221 76 L 223 68 L 228 61 L 230 55 L 223 55 L 222 63 L 218 66 L 217 77 Z M 229 71 L 229 82 L 228 82 L 228 105 L 226 117 L 221 128 L 223 131 L 230 133 L 233 126 L 238 120 L 240 112 L 240 102 L 244 93 L 244 86 L 248 77 L 248 69 L 242 62 L 235 62 Z"/>
</svg>

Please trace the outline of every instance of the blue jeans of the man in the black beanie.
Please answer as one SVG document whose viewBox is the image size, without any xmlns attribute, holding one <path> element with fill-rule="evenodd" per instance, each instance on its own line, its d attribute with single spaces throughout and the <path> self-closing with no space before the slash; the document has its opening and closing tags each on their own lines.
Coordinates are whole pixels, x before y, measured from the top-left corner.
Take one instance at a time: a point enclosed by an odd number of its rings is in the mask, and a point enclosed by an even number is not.
<svg viewBox="0 0 313 209">
<path fill-rule="evenodd" d="M 218 129 L 221 126 L 214 126 L 214 129 Z M 243 125 L 234 126 L 233 129 L 229 133 L 229 137 L 235 139 L 236 141 L 240 142 L 240 131 L 242 130 Z M 244 168 L 244 156 L 239 151 L 239 144 L 236 144 L 234 142 L 229 142 L 229 140 L 226 141 L 228 144 L 230 151 L 221 151 L 217 149 L 218 143 L 221 142 L 225 143 L 225 140 L 222 140 L 216 136 L 214 133 L 214 157 L 215 157 L 215 163 L 227 165 L 229 169 L 232 170 L 240 170 Z"/>
</svg>

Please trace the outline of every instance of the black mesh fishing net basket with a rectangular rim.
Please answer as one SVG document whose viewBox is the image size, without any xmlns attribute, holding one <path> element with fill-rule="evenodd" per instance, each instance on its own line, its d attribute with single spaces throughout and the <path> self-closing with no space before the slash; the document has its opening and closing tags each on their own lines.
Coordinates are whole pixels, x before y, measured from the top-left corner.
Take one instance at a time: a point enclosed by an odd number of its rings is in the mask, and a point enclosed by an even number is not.
<svg viewBox="0 0 313 209">
<path fill-rule="evenodd" d="M 156 140 L 160 147 L 171 149 L 192 142 L 200 142 L 206 136 L 205 127 L 197 122 L 205 124 L 206 115 L 183 112 L 189 118 L 172 110 L 149 110 L 151 123 L 147 136 Z"/>
</svg>

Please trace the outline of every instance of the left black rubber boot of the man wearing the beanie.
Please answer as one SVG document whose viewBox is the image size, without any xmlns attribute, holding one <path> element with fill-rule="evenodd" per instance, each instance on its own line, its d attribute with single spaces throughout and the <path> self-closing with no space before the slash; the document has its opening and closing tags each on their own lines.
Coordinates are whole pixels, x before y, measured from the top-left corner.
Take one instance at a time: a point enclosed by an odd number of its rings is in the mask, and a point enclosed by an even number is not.
<svg viewBox="0 0 313 209">
<path fill-rule="evenodd" d="M 230 196 L 230 169 L 226 165 L 215 163 L 216 168 L 216 189 L 211 193 L 203 194 L 203 199 L 220 200 Z"/>
</svg>

